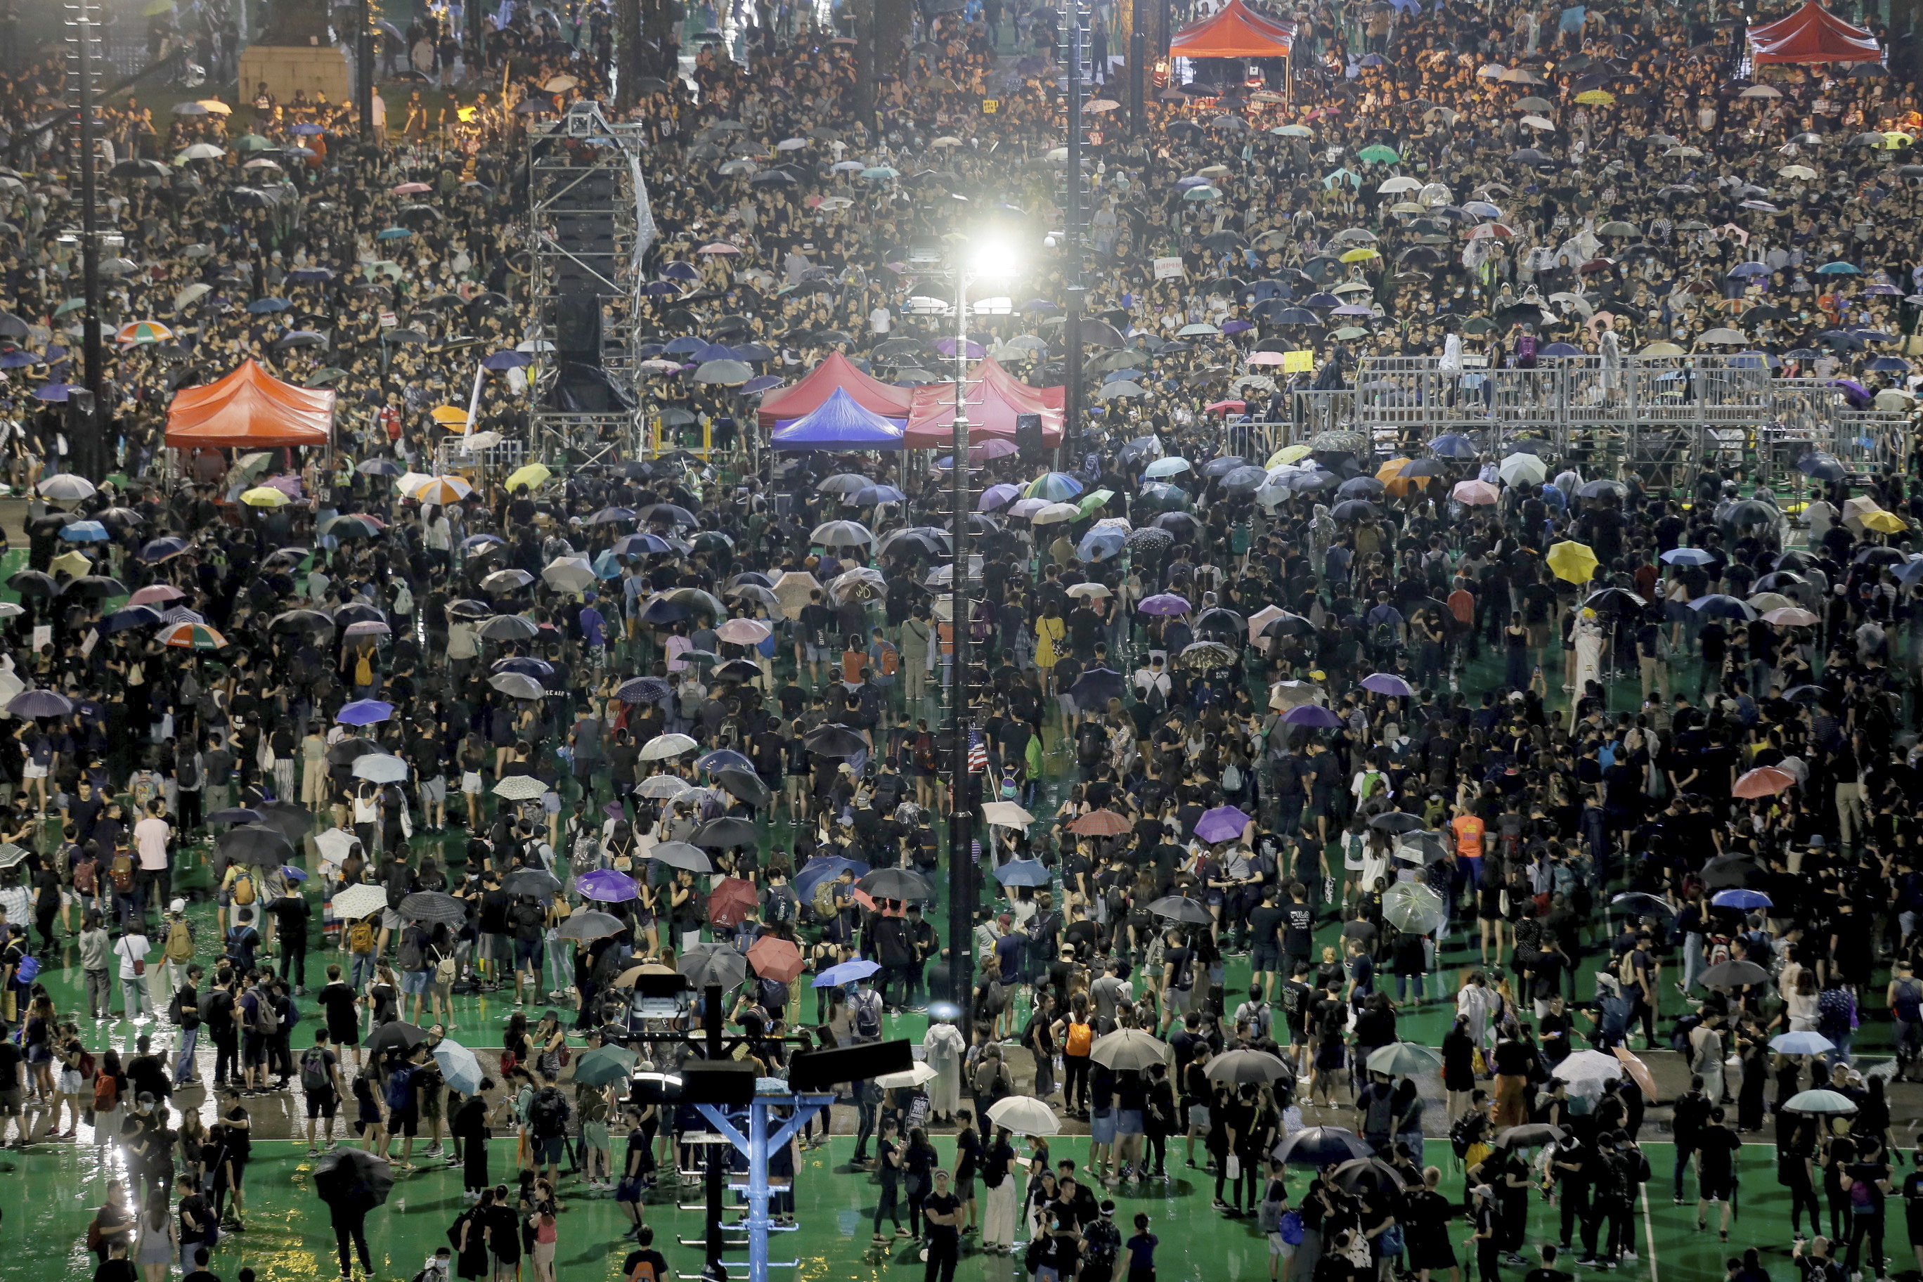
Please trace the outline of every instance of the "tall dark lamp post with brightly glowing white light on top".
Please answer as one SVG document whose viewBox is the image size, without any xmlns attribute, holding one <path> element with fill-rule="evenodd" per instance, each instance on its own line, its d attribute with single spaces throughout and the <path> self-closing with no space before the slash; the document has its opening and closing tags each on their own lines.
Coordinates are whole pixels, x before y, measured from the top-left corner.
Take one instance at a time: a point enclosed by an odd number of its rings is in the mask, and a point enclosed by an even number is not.
<svg viewBox="0 0 1923 1282">
<path fill-rule="evenodd" d="M 948 473 L 948 536 L 954 563 L 948 567 L 948 627 L 954 632 L 954 663 L 948 686 L 950 775 L 948 775 L 948 996 L 965 1007 L 975 961 L 975 896 L 981 869 L 975 867 L 975 811 L 969 805 L 969 627 L 975 611 L 967 594 L 967 519 L 973 513 L 973 486 L 967 481 L 967 286 L 975 281 L 1006 281 L 1013 275 L 1008 246 L 973 246 L 967 261 L 956 265 L 956 421 L 954 467 Z"/>
</svg>

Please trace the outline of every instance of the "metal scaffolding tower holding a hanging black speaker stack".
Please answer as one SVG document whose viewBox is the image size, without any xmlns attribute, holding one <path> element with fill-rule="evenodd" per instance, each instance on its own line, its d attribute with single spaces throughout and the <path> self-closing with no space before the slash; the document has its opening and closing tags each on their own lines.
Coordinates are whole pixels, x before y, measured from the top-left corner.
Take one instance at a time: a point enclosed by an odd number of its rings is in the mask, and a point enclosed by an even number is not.
<svg viewBox="0 0 1923 1282">
<path fill-rule="evenodd" d="M 635 315 L 654 213 L 640 125 L 610 125 L 596 102 L 529 125 L 529 296 L 535 363 L 529 446 L 540 456 L 640 440 Z"/>
</svg>

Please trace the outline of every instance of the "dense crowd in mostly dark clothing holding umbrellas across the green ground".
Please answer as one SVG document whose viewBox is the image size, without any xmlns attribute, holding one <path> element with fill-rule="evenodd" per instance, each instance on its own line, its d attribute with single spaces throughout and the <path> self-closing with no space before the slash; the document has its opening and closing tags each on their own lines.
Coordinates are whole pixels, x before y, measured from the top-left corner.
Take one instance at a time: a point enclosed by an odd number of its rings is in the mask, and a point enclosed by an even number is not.
<svg viewBox="0 0 1923 1282">
<path fill-rule="evenodd" d="M 98 484 L 60 406 L 73 138 L 10 133 L 4 444 L 33 509 L 0 607 L 0 1138 L 117 1153 L 96 1276 L 231 1259 L 248 1101 L 287 1094 L 342 1276 L 375 1270 L 392 1182 L 446 1165 L 458 1276 L 554 1278 L 565 1190 L 612 1197 L 623 1276 L 660 1282 L 652 1192 L 710 1151 L 663 1080 L 713 1021 L 767 1078 L 919 1044 L 771 1157 L 771 1215 L 852 1130 L 871 1244 L 915 1240 L 931 1282 L 969 1238 L 1038 1282 L 1148 1282 L 1127 1197 L 1188 1169 L 1271 1278 L 1633 1263 L 1652 1180 L 1750 1238 L 1733 1278 L 1783 1249 L 1892 1269 L 1888 1201 L 1923 1215 L 1888 1094 L 1923 1071 L 1908 448 L 1810 448 L 1792 492 L 1219 415 L 1286 419 L 1269 357 L 1296 350 L 1323 386 L 1404 354 L 1471 392 L 1465 354 L 1723 327 L 1779 373 L 1908 390 L 1917 185 L 1883 131 L 1923 123 L 1910 90 L 1738 77 L 1694 10 L 1306 6 L 1288 92 L 1171 85 L 1135 138 L 1098 111 L 1071 265 L 1040 248 L 1052 25 L 1011 60 L 1000 6 L 925 23 L 873 117 L 846 40 L 708 46 L 638 94 L 658 238 L 612 311 L 650 431 L 715 448 L 510 473 L 454 436 L 525 438 L 540 386 L 523 144 L 610 92 L 602 17 L 519 8 L 506 79 L 413 94 L 379 148 L 348 104 L 265 88 L 104 111 Z M 438 31 L 406 40 L 437 71 L 465 58 Z M 58 79 L 10 77 L 8 117 Z M 908 302 L 942 292 L 910 248 L 952 233 L 1035 254 L 960 354 Z M 840 352 L 1056 386 L 1071 267 L 1088 421 L 969 452 L 967 561 L 954 459 L 769 454 L 754 392 L 702 379 Z M 169 392 L 248 357 L 335 388 L 331 450 L 165 448 Z M 1640 1147 L 1658 1105 L 1673 1169 Z M 1050 1153 L 1063 1124 L 1086 1161 Z M 1756 1144 L 1794 1238 L 1731 1219 Z"/>
</svg>

